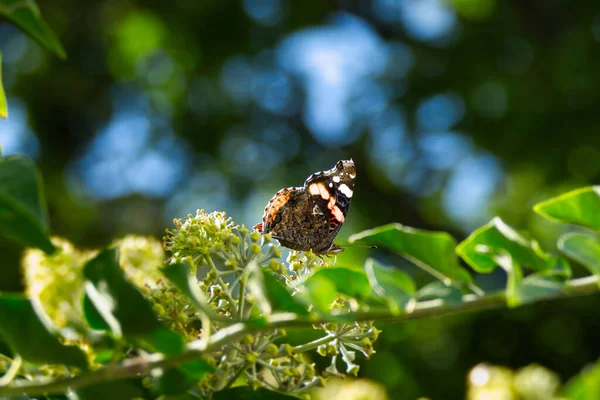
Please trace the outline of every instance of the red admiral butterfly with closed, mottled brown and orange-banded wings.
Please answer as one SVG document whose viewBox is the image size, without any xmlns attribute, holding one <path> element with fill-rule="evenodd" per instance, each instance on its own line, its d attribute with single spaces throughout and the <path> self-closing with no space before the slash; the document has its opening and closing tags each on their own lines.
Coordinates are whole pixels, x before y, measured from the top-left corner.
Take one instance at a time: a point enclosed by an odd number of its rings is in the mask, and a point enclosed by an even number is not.
<svg viewBox="0 0 600 400">
<path fill-rule="evenodd" d="M 293 250 L 341 253 L 344 249 L 333 244 L 333 239 L 348 214 L 355 179 L 354 161 L 341 160 L 332 169 L 309 176 L 303 187 L 281 189 L 254 230 L 271 233 Z"/>
</svg>

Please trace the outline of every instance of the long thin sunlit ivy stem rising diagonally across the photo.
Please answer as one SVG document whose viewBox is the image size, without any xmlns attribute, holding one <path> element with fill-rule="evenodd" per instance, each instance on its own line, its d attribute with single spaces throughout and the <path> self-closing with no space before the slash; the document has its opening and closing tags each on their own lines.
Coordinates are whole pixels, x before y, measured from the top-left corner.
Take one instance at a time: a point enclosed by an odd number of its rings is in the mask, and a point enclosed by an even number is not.
<svg viewBox="0 0 600 400">
<path fill-rule="evenodd" d="M 574 297 L 600 291 L 600 279 L 597 276 L 573 279 L 567 282 L 566 289 L 554 295 L 537 298 L 549 300 L 563 297 Z M 339 321 L 406 321 L 440 317 L 463 311 L 484 310 L 507 306 L 504 292 L 491 293 L 484 297 L 468 294 L 463 296 L 463 302 L 456 305 L 445 304 L 442 299 L 421 301 L 416 303 L 410 313 L 393 315 L 388 309 L 375 309 L 368 312 L 355 312 L 343 316 L 299 316 L 294 313 L 277 313 L 267 317 L 267 324 L 253 324 L 252 322 L 238 322 L 215 332 L 207 341 L 197 340 L 190 342 L 186 350 L 178 355 L 165 358 L 162 354 L 151 354 L 124 361 L 122 364 L 113 365 L 84 373 L 82 375 L 59 379 L 46 383 L 20 383 L 13 382 L 11 386 L 0 387 L 0 398 L 9 396 L 41 396 L 62 394 L 68 390 L 76 390 L 85 386 L 99 384 L 107 381 L 138 377 L 149 373 L 154 368 L 168 368 L 181 363 L 202 358 L 206 353 L 214 351 L 221 346 L 233 342 L 242 336 L 258 331 L 272 330 L 275 328 L 289 328 L 311 326 L 313 324 Z"/>
</svg>

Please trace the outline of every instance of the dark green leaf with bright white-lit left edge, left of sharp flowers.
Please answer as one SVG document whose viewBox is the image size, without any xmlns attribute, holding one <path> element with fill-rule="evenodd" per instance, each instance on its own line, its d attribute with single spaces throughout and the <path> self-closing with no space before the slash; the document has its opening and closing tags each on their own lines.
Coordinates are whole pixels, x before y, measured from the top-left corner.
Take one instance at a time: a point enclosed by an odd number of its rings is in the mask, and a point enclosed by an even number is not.
<svg viewBox="0 0 600 400">
<path fill-rule="evenodd" d="M 117 337 L 123 335 L 152 351 L 176 354 L 183 349 L 183 337 L 165 328 L 144 296 L 125 279 L 117 263 L 115 248 L 105 249 L 84 268 L 86 295 L 104 322 Z M 98 321 L 88 320 L 98 326 Z"/>
</svg>

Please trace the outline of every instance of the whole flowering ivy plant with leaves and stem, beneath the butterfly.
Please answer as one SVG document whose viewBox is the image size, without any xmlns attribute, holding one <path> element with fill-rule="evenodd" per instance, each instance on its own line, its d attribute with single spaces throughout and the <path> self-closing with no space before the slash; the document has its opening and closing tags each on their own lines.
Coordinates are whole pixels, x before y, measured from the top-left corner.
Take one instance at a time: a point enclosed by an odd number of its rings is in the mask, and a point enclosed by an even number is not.
<svg viewBox="0 0 600 400">
<path fill-rule="evenodd" d="M 597 229 L 599 193 L 579 189 L 535 211 Z M 413 262 L 434 280 L 424 287 L 372 258 L 359 269 L 312 252 L 284 258 L 270 235 L 224 212 L 177 218 L 162 243 L 128 236 L 79 250 L 51 236 L 39 173 L 22 156 L 0 159 L 0 233 L 28 247 L 25 292 L 0 293 L 0 397 L 309 398 L 331 377 L 358 374 L 357 359 L 377 347 L 378 320 L 600 289 L 592 235 L 566 234 L 558 240 L 563 254 L 551 254 L 500 218 L 458 244 L 448 233 L 397 223 L 350 238 Z M 569 260 L 590 274 L 572 279 Z M 4 265 L 0 279 L 10 268 L 19 266 Z M 470 272 L 497 268 L 508 279 L 495 292 L 479 288 Z M 316 339 L 289 343 L 293 327 L 312 327 Z M 328 366 L 317 368 L 315 357 Z"/>
</svg>

